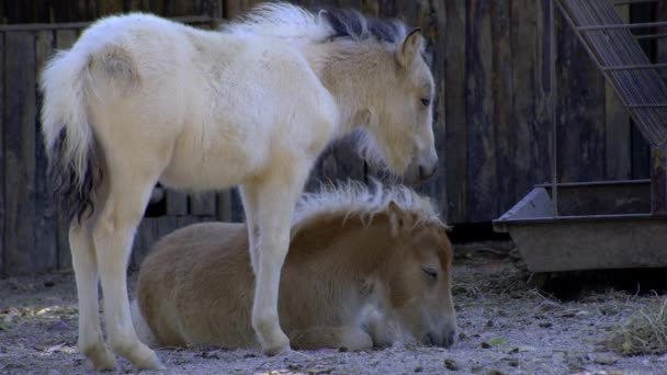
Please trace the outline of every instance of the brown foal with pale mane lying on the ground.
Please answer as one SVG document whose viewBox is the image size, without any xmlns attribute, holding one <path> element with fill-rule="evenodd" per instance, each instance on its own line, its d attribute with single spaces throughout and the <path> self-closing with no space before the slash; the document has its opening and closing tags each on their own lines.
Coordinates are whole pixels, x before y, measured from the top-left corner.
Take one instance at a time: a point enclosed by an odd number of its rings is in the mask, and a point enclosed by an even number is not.
<svg viewBox="0 0 667 375">
<path fill-rule="evenodd" d="M 348 184 L 307 194 L 281 276 L 281 327 L 295 349 L 362 350 L 405 338 L 450 346 L 451 262 L 445 226 L 407 188 Z M 152 346 L 259 346 L 253 291 L 246 226 L 192 225 L 162 238 L 144 261 L 135 327 Z"/>
</svg>

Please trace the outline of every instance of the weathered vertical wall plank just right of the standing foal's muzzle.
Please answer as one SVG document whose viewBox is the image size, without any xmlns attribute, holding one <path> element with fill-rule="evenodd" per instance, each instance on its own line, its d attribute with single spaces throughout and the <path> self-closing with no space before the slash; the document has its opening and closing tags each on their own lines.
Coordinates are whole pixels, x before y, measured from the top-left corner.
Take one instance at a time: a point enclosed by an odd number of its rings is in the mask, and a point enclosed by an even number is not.
<svg viewBox="0 0 667 375">
<path fill-rule="evenodd" d="M 448 221 L 463 223 L 467 218 L 467 139 L 465 4 L 446 1 L 445 45 L 445 116 L 444 154 L 448 194 Z M 441 42 L 441 43 L 442 43 Z"/>
</svg>

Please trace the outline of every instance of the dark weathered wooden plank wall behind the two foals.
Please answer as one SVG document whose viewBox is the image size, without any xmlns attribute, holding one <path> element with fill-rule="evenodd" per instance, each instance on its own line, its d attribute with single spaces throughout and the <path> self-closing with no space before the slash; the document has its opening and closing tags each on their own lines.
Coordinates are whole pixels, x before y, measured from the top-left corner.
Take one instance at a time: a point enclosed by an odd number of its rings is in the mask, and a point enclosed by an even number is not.
<svg viewBox="0 0 667 375">
<path fill-rule="evenodd" d="M 36 77 L 55 49 L 68 48 L 84 24 L 140 10 L 212 27 L 250 0 L 0 0 L 0 276 L 69 269 L 67 223 L 46 181 Z M 439 173 L 419 188 L 449 223 L 488 221 L 550 179 L 552 152 L 549 2 L 545 0 L 302 0 L 368 15 L 402 16 L 420 26 L 438 86 L 434 134 Z M 654 8 L 652 8 L 654 7 Z M 657 7 L 657 8 L 656 8 Z M 632 21 L 666 20 L 663 3 L 619 8 Z M 63 25 L 66 23 L 66 26 Z M 69 25 L 69 26 L 67 26 Z M 557 132 L 561 181 L 645 178 L 646 144 L 613 93 L 556 16 Z M 667 44 L 646 44 L 653 58 Z M 665 59 L 663 59 L 665 60 Z M 317 182 L 382 178 L 350 143 L 320 157 Z M 133 254 L 136 266 L 156 238 L 191 223 L 242 217 L 237 194 L 193 196 L 167 191 L 148 211 Z"/>
</svg>

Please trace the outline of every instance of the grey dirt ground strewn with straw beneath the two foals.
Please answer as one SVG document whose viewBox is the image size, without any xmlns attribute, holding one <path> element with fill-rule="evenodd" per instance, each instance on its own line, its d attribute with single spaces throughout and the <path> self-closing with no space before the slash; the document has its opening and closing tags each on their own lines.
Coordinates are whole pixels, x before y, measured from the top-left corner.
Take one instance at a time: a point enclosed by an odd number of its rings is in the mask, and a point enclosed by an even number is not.
<svg viewBox="0 0 667 375">
<path fill-rule="evenodd" d="M 507 249 L 497 242 L 456 247 L 453 292 L 461 333 L 449 350 L 397 343 L 359 353 L 265 357 L 253 350 L 163 349 L 163 373 L 667 374 L 667 354 L 626 357 L 604 345 L 614 327 L 665 296 L 607 289 L 558 300 L 529 286 L 528 273 Z M 92 373 L 76 339 L 71 273 L 0 280 L 0 374 Z M 115 373 L 135 371 L 120 360 Z"/>
</svg>

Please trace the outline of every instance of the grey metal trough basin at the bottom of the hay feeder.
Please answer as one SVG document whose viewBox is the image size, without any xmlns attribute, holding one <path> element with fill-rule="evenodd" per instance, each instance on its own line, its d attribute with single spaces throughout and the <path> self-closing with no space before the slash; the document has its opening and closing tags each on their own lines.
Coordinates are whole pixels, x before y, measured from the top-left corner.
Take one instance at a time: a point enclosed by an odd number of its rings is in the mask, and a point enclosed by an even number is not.
<svg viewBox="0 0 667 375">
<path fill-rule="evenodd" d="M 667 266 L 667 217 L 651 214 L 649 180 L 535 186 L 494 221 L 532 272 Z"/>
</svg>

